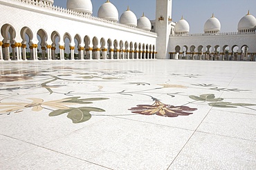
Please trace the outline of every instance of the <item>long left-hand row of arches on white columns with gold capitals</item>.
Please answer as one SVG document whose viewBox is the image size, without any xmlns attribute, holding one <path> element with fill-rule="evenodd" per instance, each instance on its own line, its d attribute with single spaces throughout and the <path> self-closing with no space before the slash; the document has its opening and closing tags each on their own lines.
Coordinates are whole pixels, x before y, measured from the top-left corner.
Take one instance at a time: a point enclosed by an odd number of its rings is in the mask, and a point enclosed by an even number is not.
<svg viewBox="0 0 256 170">
<path fill-rule="evenodd" d="M 35 31 L 35 32 L 34 32 Z M 152 44 L 1 25 L 0 60 L 156 59 Z"/>
</svg>

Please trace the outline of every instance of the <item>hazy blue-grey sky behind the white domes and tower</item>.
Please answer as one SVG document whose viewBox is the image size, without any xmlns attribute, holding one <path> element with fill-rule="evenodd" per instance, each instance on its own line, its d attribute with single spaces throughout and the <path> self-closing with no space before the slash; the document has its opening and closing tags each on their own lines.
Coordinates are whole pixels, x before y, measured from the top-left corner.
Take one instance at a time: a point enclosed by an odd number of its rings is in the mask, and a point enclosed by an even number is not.
<svg viewBox="0 0 256 170">
<path fill-rule="evenodd" d="M 98 9 L 107 0 L 91 0 L 93 16 L 98 15 Z M 150 20 L 156 18 L 156 0 L 110 0 L 118 8 L 119 17 L 127 10 L 127 6 L 137 18 L 143 12 Z M 66 8 L 66 0 L 55 0 L 55 6 Z M 248 10 L 256 16 L 256 0 L 173 0 L 172 19 L 179 21 L 181 16 L 190 24 L 190 33 L 202 33 L 203 25 L 212 13 L 221 22 L 221 32 L 237 32 L 237 24 Z"/>
</svg>

